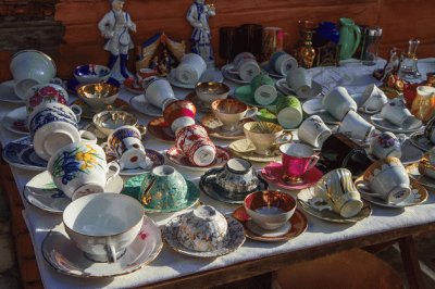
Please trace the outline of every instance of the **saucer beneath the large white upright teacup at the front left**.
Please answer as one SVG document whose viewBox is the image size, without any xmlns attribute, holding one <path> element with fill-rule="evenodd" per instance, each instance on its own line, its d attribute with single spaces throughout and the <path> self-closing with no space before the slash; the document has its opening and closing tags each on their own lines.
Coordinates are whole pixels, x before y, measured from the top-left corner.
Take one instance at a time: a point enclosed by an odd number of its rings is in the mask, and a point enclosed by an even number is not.
<svg viewBox="0 0 435 289">
<path fill-rule="evenodd" d="M 55 271 L 75 277 L 101 278 L 126 275 L 153 261 L 163 248 L 160 228 L 144 215 L 142 227 L 126 252 L 115 263 L 99 263 L 85 256 L 63 226 L 50 230 L 42 241 L 44 259 Z"/>
</svg>

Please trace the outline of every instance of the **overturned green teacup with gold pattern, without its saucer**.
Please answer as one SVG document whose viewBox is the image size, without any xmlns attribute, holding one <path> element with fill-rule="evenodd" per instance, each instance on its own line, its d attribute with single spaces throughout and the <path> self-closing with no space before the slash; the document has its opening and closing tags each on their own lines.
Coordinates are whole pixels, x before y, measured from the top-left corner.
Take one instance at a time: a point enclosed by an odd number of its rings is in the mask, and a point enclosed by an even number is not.
<svg viewBox="0 0 435 289">
<path fill-rule="evenodd" d="M 169 210 L 181 208 L 187 202 L 187 183 L 174 167 L 161 165 L 154 167 L 142 183 L 139 201 L 147 209 Z"/>
</svg>

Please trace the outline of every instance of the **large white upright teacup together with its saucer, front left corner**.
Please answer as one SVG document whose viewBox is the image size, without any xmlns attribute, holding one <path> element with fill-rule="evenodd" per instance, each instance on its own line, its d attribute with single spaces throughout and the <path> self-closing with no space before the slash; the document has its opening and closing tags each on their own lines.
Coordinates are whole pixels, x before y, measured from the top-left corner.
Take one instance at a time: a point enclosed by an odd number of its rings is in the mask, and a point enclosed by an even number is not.
<svg viewBox="0 0 435 289">
<path fill-rule="evenodd" d="M 152 262 L 163 248 L 159 227 L 128 196 L 83 197 L 67 205 L 62 218 L 47 234 L 41 251 L 48 264 L 69 276 L 127 275 Z"/>
</svg>

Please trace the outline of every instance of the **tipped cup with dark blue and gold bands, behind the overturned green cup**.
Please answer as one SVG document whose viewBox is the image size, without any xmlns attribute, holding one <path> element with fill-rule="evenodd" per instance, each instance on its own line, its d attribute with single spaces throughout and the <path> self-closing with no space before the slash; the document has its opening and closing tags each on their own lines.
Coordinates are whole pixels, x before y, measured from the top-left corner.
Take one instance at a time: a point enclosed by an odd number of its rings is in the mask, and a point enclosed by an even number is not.
<svg viewBox="0 0 435 289">
<path fill-rule="evenodd" d="M 120 162 L 121 169 L 147 168 L 147 153 L 141 141 L 139 129 L 134 126 L 121 126 L 108 137 L 109 147 Z"/>
</svg>

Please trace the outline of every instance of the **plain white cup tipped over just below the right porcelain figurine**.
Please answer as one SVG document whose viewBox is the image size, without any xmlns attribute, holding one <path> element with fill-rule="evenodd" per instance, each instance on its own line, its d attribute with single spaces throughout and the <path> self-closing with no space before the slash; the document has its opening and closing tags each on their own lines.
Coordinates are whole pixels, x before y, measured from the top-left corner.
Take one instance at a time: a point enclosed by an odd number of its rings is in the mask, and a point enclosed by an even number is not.
<svg viewBox="0 0 435 289">
<path fill-rule="evenodd" d="M 207 63 L 200 55 L 188 53 L 182 58 L 179 65 L 176 67 L 175 77 L 182 84 L 196 85 L 206 70 Z"/>
</svg>

